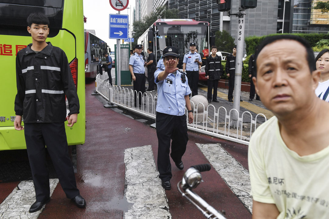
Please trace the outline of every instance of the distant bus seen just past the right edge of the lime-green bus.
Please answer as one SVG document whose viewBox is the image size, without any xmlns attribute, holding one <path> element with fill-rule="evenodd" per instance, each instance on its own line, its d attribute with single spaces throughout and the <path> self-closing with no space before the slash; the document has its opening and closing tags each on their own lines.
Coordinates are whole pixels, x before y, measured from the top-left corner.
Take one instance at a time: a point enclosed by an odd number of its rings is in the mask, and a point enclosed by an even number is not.
<svg viewBox="0 0 329 219">
<path fill-rule="evenodd" d="M 103 53 L 109 54 L 107 43 L 85 31 L 85 77 L 95 78 L 102 71 Z"/>
</svg>

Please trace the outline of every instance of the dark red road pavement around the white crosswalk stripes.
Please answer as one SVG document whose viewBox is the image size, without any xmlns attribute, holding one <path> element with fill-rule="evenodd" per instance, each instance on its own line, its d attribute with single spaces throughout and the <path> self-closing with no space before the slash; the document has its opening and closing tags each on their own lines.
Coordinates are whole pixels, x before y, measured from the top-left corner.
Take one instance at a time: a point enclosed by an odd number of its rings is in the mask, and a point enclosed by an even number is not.
<svg viewBox="0 0 329 219">
<path fill-rule="evenodd" d="M 77 145 L 76 180 L 80 194 L 86 199 L 86 208 L 78 208 L 66 198 L 60 184 L 39 219 L 62 218 L 123 218 L 126 148 L 152 145 L 157 162 L 158 139 L 156 130 L 143 122 L 131 119 L 103 104 L 90 94 L 94 82 L 86 84 L 86 142 Z M 79 121 L 79 117 L 78 117 Z M 173 219 L 205 218 L 197 208 L 182 197 L 177 183 L 188 167 L 209 163 L 196 143 L 221 143 L 239 163 L 247 167 L 247 146 L 189 132 L 187 150 L 183 156 L 184 169 L 172 164 L 171 190 L 166 190 L 169 211 Z M 217 210 L 224 210 L 227 218 L 251 218 L 250 212 L 212 168 L 202 172 L 204 182 L 194 191 Z M 126 206 L 125 206 L 126 205 Z"/>
</svg>

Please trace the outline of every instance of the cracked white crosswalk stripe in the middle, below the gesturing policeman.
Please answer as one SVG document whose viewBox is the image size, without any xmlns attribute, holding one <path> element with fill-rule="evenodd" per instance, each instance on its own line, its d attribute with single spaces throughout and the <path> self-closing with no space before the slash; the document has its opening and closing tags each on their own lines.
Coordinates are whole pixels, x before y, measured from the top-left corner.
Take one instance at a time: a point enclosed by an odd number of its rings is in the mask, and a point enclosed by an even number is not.
<svg viewBox="0 0 329 219">
<path fill-rule="evenodd" d="M 125 196 L 134 205 L 123 218 L 171 219 L 151 145 L 128 148 L 124 154 Z"/>
</svg>

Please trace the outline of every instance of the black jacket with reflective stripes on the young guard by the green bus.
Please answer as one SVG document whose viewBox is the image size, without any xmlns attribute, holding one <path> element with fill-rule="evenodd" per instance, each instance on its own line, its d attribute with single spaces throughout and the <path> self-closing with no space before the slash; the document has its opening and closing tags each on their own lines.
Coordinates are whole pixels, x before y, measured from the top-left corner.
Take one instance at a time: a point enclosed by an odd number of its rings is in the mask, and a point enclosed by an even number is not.
<svg viewBox="0 0 329 219">
<path fill-rule="evenodd" d="M 62 49 L 47 43 L 38 53 L 31 49 L 31 43 L 16 56 L 14 109 L 16 115 L 24 117 L 24 123 L 65 121 L 65 95 L 70 114 L 79 113 L 79 99 L 67 57 Z"/>
</svg>

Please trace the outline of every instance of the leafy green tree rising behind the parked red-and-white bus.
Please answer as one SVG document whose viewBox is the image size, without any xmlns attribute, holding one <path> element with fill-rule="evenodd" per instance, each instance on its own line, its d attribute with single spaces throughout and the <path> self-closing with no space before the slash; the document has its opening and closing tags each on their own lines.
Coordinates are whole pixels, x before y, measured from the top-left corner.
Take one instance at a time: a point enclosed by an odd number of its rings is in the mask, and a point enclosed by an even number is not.
<svg viewBox="0 0 329 219">
<path fill-rule="evenodd" d="M 135 21 L 133 24 L 133 37 L 135 42 L 132 43 L 132 47 L 137 44 L 137 39 L 157 20 L 157 19 L 175 19 L 178 18 L 177 9 L 168 9 L 167 6 L 158 7 L 155 11 L 152 11 L 149 15 L 143 17 L 140 21 Z"/>
</svg>

